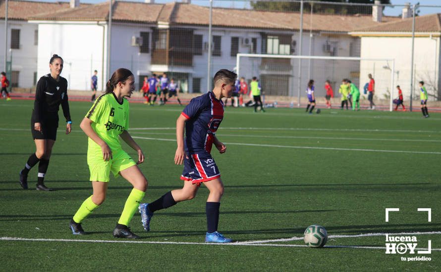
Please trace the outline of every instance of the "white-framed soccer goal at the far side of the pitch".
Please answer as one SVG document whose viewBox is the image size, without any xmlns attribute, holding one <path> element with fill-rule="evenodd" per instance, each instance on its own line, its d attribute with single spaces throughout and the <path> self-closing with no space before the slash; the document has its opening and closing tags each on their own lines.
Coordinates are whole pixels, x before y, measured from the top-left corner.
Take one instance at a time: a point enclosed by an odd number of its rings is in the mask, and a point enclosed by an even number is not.
<svg viewBox="0 0 441 272">
<path fill-rule="evenodd" d="M 294 61 L 296 59 L 308 60 L 302 61 L 300 66 L 302 75 L 300 85 L 296 84 L 297 80 L 294 81 L 294 78 L 298 77 L 298 63 L 300 62 Z M 250 79 L 256 76 L 264 79 L 264 90 L 265 85 L 270 85 L 273 89 L 278 88 L 274 87 L 274 84 L 271 85 L 271 83 L 277 81 L 277 77 L 279 77 L 279 81 L 282 83 L 281 89 L 283 90 L 277 90 L 280 93 L 278 95 L 295 97 L 296 93 L 297 101 L 300 101 L 301 93 L 306 90 L 306 85 L 310 79 L 315 80 L 316 90 L 321 88 L 318 84 L 321 85 L 324 84 L 325 80 L 330 80 L 334 83 L 333 89 L 334 94 L 336 94 L 341 80 L 349 78 L 354 83 L 358 83 L 360 93 L 363 94 L 363 82 L 367 82 L 368 74 L 372 74 L 376 80 L 375 92 L 377 97 L 390 96 L 389 111 L 392 111 L 394 93 L 396 93 L 394 91 L 395 60 L 387 58 L 238 53 L 236 55 L 236 73 L 239 78 Z M 285 86 L 287 86 L 287 90 L 285 90 Z"/>
</svg>

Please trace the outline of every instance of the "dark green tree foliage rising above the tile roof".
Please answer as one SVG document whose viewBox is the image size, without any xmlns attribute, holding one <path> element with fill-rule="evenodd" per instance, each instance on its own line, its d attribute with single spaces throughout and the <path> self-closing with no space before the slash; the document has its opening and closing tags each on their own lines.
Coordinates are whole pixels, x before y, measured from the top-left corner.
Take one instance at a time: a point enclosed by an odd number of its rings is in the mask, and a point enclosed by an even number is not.
<svg viewBox="0 0 441 272">
<path fill-rule="evenodd" d="M 373 4 L 374 0 L 319 0 L 321 3 L 310 3 L 305 1 L 303 8 L 305 12 L 313 8 L 314 13 L 327 13 L 327 14 L 371 14 L 372 6 L 366 5 L 341 5 L 334 4 L 335 2 L 350 2 L 350 3 L 364 3 Z M 390 4 L 390 0 L 381 0 L 382 4 Z M 283 1 L 252 1 L 251 7 L 256 10 L 278 10 L 278 11 L 299 11 L 299 2 L 283 2 Z"/>
</svg>

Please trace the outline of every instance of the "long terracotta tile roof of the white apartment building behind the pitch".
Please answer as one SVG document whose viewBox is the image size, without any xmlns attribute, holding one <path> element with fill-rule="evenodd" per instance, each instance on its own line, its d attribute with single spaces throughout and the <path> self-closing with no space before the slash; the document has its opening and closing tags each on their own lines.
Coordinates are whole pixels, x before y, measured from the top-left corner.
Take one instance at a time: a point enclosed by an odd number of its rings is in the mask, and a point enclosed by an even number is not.
<svg viewBox="0 0 441 272">
<path fill-rule="evenodd" d="M 3 2 L 1 2 L 3 3 Z M 69 8 L 69 3 L 47 3 L 10 0 L 10 18 L 58 21 L 107 20 L 109 2 L 81 4 Z M 0 4 L 0 12 L 2 5 Z M 29 12 L 22 12 L 23 10 Z M 114 1 L 112 19 L 119 22 L 158 23 L 170 25 L 207 26 L 209 8 L 195 4 L 171 2 L 150 4 L 143 2 Z M 3 11 L 4 13 L 4 11 Z M 15 17 L 14 17 L 15 16 Z M 21 16 L 21 17 L 18 17 Z M 350 32 L 357 29 L 375 29 L 401 21 L 398 17 L 384 16 L 384 22 L 374 22 L 371 15 L 303 15 L 303 29 L 313 31 Z M 424 17 L 424 16 L 422 16 Z M 278 29 L 293 31 L 300 25 L 299 12 L 260 11 L 234 8 L 213 8 L 213 26 L 230 28 Z"/>
</svg>

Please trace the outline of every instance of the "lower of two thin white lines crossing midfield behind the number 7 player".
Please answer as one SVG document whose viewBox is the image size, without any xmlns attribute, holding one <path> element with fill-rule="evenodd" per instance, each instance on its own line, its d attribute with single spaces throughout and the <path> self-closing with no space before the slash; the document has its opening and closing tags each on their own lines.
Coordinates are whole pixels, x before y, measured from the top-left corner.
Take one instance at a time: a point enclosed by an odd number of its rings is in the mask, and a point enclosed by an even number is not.
<svg viewBox="0 0 441 272">
<path fill-rule="evenodd" d="M 132 136 L 136 139 L 144 140 L 159 140 L 159 141 L 176 141 L 175 139 L 164 138 L 151 138 Z M 366 152 L 386 152 L 386 153 L 410 153 L 410 154 L 435 154 L 441 155 L 441 152 L 432 151 L 403 151 L 403 150 L 381 150 L 381 149 L 361 149 L 361 148 L 338 148 L 338 147 L 317 147 L 317 146 L 295 146 L 295 145 L 277 145 L 277 144 L 257 144 L 257 143 L 238 143 L 238 142 L 224 142 L 225 144 L 232 145 L 245 145 L 245 146 L 265 146 L 265 147 L 279 147 L 279 148 L 294 148 L 294 149 L 318 149 L 318 150 L 342 150 L 342 151 L 366 151 Z"/>
</svg>

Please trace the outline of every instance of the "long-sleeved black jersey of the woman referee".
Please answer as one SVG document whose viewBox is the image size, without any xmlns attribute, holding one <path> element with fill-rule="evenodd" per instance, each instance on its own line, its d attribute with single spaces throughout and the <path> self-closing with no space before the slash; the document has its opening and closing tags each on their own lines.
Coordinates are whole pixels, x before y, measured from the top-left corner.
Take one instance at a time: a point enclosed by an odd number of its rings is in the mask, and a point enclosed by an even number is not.
<svg viewBox="0 0 441 272">
<path fill-rule="evenodd" d="M 67 102 L 67 80 L 59 77 L 57 82 L 51 74 L 40 78 L 35 93 L 34 110 L 32 111 L 33 123 L 58 123 L 59 105 L 63 109 L 66 122 L 71 121 L 69 103 Z"/>
</svg>

